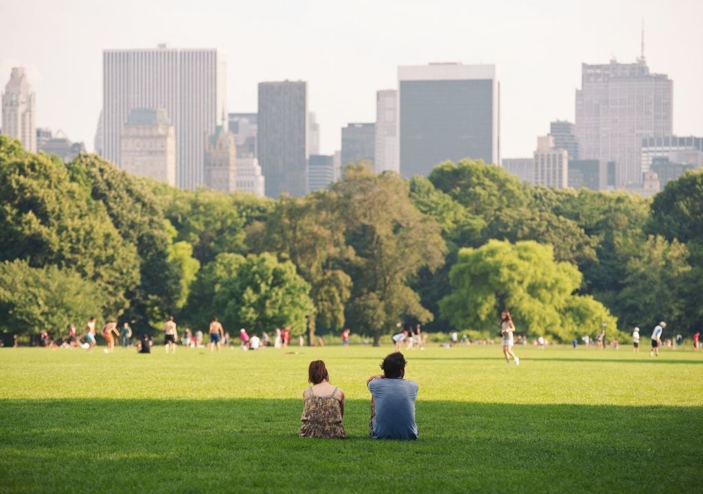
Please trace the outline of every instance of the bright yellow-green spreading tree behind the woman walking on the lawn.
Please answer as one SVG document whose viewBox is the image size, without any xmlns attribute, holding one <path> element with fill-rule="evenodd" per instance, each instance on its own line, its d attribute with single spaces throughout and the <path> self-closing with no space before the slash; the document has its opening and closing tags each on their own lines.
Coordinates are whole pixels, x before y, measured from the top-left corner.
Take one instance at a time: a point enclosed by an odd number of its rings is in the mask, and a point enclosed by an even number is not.
<svg viewBox="0 0 703 494">
<path fill-rule="evenodd" d="M 494 332 L 503 309 L 512 313 L 518 330 L 562 340 L 573 336 L 574 325 L 588 320 L 616 327 L 598 302 L 573 294 L 581 273 L 572 264 L 556 262 L 550 245 L 491 240 L 477 249 L 461 249 L 449 280 L 454 292 L 439 307 L 457 330 Z"/>
</svg>

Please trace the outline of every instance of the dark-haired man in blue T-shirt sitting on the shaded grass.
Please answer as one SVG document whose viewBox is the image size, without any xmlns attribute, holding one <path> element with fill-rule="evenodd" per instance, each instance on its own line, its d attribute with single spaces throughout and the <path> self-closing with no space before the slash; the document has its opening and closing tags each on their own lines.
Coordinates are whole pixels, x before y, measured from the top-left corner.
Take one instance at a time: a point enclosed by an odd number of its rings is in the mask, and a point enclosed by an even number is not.
<svg viewBox="0 0 703 494">
<path fill-rule="evenodd" d="M 383 374 L 366 381 L 371 392 L 369 428 L 374 439 L 418 438 L 418 424 L 415 424 L 418 383 L 403 379 L 406 365 L 402 353 L 390 353 L 381 363 Z"/>
</svg>

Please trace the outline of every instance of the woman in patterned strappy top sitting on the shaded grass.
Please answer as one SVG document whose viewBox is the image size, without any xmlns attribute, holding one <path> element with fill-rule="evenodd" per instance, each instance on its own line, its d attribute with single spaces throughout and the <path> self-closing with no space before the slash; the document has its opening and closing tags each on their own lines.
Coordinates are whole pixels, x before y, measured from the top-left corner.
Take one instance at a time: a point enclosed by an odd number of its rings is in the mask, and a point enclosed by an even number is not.
<svg viewBox="0 0 703 494">
<path fill-rule="evenodd" d="M 308 382 L 312 386 L 303 391 L 301 437 L 347 437 L 342 427 L 344 391 L 329 380 L 325 363 L 312 361 L 308 368 Z"/>
</svg>

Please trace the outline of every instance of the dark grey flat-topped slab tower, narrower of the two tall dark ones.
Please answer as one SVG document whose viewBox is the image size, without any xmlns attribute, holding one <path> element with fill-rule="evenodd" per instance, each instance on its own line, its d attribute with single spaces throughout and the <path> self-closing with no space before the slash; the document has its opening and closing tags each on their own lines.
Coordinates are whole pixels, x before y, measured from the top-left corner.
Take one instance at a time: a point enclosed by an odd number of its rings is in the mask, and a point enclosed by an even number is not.
<svg viewBox="0 0 703 494">
<path fill-rule="evenodd" d="M 266 195 L 307 194 L 307 82 L 259 83 L 259 163 Z"/>
</svg>

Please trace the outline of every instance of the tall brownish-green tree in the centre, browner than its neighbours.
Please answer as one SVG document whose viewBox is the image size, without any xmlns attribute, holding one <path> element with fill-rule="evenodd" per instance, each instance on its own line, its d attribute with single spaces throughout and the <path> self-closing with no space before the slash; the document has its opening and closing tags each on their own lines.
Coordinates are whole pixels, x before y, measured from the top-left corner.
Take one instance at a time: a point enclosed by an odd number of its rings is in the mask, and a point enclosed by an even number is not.
<svg viewBox="0 0 703 494">
<path fill-rule="evenodd" d="M 391 172 L 375 176 L 350 165 L 331 189 L 354 249 L 344 270 L 354 287 L 347 319 L 373 334 L 375 345 L 400 318 L 431 320 L 410 285 L 421 268 L 443 264 L 446 245 L 437 221 L 413 205 L 408 183 Z"/>
</svg>

